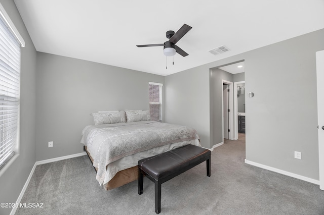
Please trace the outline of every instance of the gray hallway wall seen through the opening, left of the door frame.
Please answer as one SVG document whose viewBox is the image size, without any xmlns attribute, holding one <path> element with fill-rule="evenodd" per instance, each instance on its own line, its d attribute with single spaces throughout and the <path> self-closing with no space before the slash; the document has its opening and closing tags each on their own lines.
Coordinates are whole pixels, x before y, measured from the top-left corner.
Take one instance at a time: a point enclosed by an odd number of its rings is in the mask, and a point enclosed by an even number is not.
<svg viewBox="0 0 324 215">
<path fill-rule="evenodd" d="M 212 145 L 223 142 L 223 80 L 233 82 L 233 74 L 221 69 L 212 69 L 210 75 L 210 95 L 213 101 L 210 102 L 211 121 L 213 126 Z M 233 112 L 231 112 L 233 113 Z"/>
</svg>

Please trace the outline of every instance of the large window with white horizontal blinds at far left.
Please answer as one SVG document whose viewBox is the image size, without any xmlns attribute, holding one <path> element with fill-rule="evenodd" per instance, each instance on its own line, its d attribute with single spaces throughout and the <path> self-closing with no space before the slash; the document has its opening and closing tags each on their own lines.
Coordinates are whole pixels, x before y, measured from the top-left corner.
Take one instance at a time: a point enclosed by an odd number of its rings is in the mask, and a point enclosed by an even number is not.
<svg viewBox="0 0 324 215">
<path fill-rule="evenodd" d="M 21 46 L 23 39 L 0 5 L 0 169 L 18 145 Z"/>
</svg>

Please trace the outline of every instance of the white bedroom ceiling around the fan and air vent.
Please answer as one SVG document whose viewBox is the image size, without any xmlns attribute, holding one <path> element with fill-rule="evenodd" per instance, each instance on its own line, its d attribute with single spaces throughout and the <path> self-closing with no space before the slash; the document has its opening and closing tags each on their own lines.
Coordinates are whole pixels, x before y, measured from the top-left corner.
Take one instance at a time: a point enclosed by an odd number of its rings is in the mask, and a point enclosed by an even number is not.
<svg viewBox="0 0 324 215">
<path fill-rule="evenodd" d="M 323 0 L 14 0 L 37 51 L 169 75 L 324 28 Z M 168 58 L 166 31 L 192 29 Z M 27 44 L 28 45 L 28 44 Z M 209 50 L 230 51 L 214 56 Z"/>
</svg>

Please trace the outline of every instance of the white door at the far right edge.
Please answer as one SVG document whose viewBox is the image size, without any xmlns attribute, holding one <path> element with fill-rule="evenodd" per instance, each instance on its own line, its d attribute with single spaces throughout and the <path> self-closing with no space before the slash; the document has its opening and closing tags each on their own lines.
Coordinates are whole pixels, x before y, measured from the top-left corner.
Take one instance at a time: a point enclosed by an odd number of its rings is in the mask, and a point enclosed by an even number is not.
<svg viewBox="0 0 324 215">
<path fill-rule="evenodd" d="M 324 190 L 324 50 L 316 52 L 319 189 Z"/>
</svg>

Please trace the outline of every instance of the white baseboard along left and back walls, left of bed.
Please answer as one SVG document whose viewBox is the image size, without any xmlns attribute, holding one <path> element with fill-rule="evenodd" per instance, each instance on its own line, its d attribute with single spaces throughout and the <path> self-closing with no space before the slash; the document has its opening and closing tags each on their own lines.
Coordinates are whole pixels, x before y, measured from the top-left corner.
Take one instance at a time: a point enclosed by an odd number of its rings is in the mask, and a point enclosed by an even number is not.
<svg viewBox="0 0 324 215">
<path fill-rule="evenodd" d="M 46 160 L 39 160 L 38 162 L 35 162 L 34 166 L 32 167 L 32 169 L 30 171 L 30 174 L 29 174 L 29 176 L 27 178 L 27 181 L 26 181 L 24 187 L 22 188 L 22 190 L 21 190 L 21 192 L 20 192 L 20 194 L 18 196 L 18 199 L 17 199 L 16 203 L 20 204 L 20 201 L 21 201 L 22 197 L 25 194 L 25 191 L 26 191 L 26 189 L 28 187 L 30 179 L 31 179 L 32 175 L 34 174 L 36 166 L 41 165 L 41 164 L 48 164 L 48 163 L 52 163 L 52 162 L 57 162 L 59 160 L 65 160 L 65 159 L 69 159 L 69 158 L 73 158 L 73 157 L 79 157 L 79 156 L 83 156 L 83 155 L 87 155 L 87 152 L 81 152 L 81 153 L 77 153 L 77 154 L 71 154 L 71 155 L 67 155 L 67 156 L 56 157 L 56 158 L 51 158 L 51 159 L 46 159 Z M 16 210 L 17 210 L 17 207 L 13 207 L 11 212 L 10 212 L 10 215 L 14 215 L 16 213 Z"/>
</svg>

